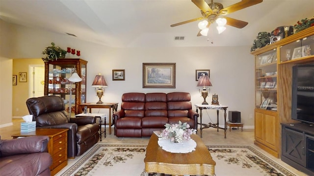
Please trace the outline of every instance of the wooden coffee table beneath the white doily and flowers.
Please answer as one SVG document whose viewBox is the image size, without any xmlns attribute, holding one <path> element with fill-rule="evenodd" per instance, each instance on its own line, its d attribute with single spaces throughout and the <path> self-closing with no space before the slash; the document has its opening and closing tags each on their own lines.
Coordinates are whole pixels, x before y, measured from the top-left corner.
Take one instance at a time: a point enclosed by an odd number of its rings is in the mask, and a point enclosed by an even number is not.
<svg viewBox="0 0 314 176">
<path fill-rule="evenodd" d="M 216 162 L 212 160 L 209 150 L 202 139 L 192 134 L 196 142 L 195 151 L 186 154 L 170 153 L 158 145 L 158 136 L 153 133 L 144 158 L 147 173 L 162 173 L 170 175 L 208 175 L 215 176 Z"/>
</svg>

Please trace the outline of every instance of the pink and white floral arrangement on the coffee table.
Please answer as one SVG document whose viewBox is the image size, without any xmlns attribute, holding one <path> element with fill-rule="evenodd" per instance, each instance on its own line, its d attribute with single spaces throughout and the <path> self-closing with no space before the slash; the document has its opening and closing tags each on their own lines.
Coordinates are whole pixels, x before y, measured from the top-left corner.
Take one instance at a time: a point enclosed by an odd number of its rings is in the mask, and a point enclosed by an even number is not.
<svg viewBox="0 0 314 176">
<path fill-rule="evenodd" d="M 165 129 L 161 132 L 160 136 L 161 138 L 168 138 L 171 142 L 179 143 L 183 140 L 190 140 L 191 134 L 195 134 L 195 129 L 190 129 L 190 125 L 186 122 L 182 124 L 181 121 L 179 121 L 179 124 L 166 124 Z"/>
</svg>

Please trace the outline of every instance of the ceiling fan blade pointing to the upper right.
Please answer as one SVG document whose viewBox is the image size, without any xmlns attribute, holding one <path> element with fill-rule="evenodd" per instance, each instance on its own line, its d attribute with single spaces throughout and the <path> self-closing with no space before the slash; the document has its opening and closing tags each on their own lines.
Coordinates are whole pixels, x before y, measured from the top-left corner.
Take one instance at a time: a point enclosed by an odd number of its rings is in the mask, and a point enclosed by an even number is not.
<svg viewBox="0 0 314 176">
<path fill-rule="evenodd" d="M 235 12 L 235 11 L 244 9 L 246 7 L 249 7 L 249 6 L 261 3 L 262 1 L 263 0 L 242 0 L 242 1 L 238 2 L 238 3 L 235 3 L 233 5 L 230 5 L 230 6 L 226 7 L 226 8 L 221 9 L 219 13 L 221 15 L 228 15 L 228 14 L 230 14 L 232 12 Z"/>
</svg>

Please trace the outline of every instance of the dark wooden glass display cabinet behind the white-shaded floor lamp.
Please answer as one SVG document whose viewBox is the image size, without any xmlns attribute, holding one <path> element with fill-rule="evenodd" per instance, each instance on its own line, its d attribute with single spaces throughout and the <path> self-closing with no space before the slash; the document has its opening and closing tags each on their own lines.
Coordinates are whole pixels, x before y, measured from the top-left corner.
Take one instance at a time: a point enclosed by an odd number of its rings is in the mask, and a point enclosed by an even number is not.
<svg viewBox="0 0 314 176">
<path fill-rule="evenodd" d="M 72 83 L 68 80 L 74 69 L 77 69 L 81 82 Z M 82 59 L 58 59 L 45 62 L 45 95 L 61 96 L 65 109 L 70 109 L 70 91 L 72 90 L 71 116 L 78 114 L 78 105 L 86 102 L 87 61 Z"/>
</svg>

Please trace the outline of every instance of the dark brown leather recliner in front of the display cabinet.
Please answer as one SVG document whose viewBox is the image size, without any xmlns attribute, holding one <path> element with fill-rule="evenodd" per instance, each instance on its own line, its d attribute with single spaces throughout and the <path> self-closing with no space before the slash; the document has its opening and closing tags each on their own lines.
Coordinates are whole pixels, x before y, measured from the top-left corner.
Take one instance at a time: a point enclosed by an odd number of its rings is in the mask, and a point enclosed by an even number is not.
<svg viewBox="0 0 314 176">
<path fill-rule="evenodd" d="M 90 149 L 99 140 L 99 125 L 93 116 L 68 118 L 59 96 L 42 96 L 26 101 L 36 128 L 63 128 L 68 131 L 68 157 L 74 158 Z"/>
</svg>

